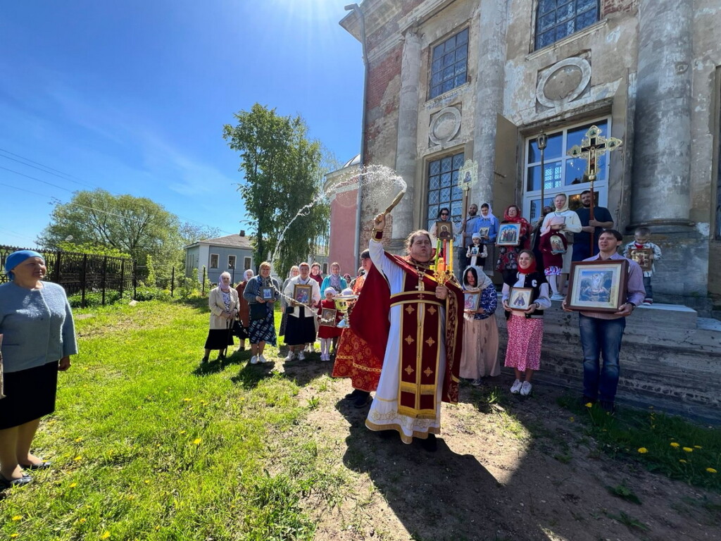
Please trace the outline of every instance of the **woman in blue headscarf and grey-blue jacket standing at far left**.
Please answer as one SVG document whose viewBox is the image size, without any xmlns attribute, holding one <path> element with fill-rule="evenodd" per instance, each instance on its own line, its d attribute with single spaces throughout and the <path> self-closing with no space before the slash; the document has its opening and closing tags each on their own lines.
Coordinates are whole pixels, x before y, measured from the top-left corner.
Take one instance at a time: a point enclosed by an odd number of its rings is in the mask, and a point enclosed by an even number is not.
<svg viewBox="0 0 721 541">
<path fill-rule="evenodd" d="M 5 260 L 11 281 L 0 286 L 0 490 L 30 483 L 25 470 L 50 467 L 30 445 L 40 418 L 55 410 L 58 370 L 70 368 L 78 352 L 65 290 L 43 281 L 46 271 L 45 258 L 32 250 Z"/>
</svg>

